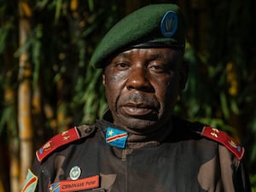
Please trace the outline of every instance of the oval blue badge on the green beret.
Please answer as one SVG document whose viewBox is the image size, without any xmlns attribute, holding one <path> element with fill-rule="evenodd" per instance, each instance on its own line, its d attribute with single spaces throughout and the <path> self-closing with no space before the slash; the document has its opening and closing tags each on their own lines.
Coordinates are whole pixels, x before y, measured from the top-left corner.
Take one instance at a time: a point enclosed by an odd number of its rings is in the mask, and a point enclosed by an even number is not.
<svg viewBox="0 0 256 192">
<path fill-rule="evenodd" d="M 166 38 L 172 38 L 177 31 L 177 15 L 173 11 L 166 12 L 160 24 L 162 35 Z"/>
</svg>

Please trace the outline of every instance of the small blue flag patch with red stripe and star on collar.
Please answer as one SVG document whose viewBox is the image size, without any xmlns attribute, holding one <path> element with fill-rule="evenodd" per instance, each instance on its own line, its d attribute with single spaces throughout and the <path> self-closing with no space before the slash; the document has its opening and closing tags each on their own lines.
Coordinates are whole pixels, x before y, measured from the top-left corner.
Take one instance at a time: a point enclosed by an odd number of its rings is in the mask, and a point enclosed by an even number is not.
<svg viewBox="0 0 256 192">
<path fill-rule="evenodd" d="M 108 127 L 106 131 L 106 143 L 109 145 L 125 148 L 125 143 L 128 137 L 128 132 Z"/>
</svg>

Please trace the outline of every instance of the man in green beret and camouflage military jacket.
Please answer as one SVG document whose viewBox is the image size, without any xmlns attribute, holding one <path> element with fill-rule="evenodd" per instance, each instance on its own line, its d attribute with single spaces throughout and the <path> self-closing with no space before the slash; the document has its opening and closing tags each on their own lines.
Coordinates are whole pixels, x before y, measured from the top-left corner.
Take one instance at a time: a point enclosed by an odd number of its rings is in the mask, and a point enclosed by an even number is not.
<svg viewBox="0 0 256 192">
<path fill-rule="evenodd" d="M 250 191 L 234 139 L 172 114 L 187 80 L 184 36 L 174 4 L 113 26 L 91 59 L 103 68 L 108 112 L 38 149 L 23 191 Z"/>
</svg>

